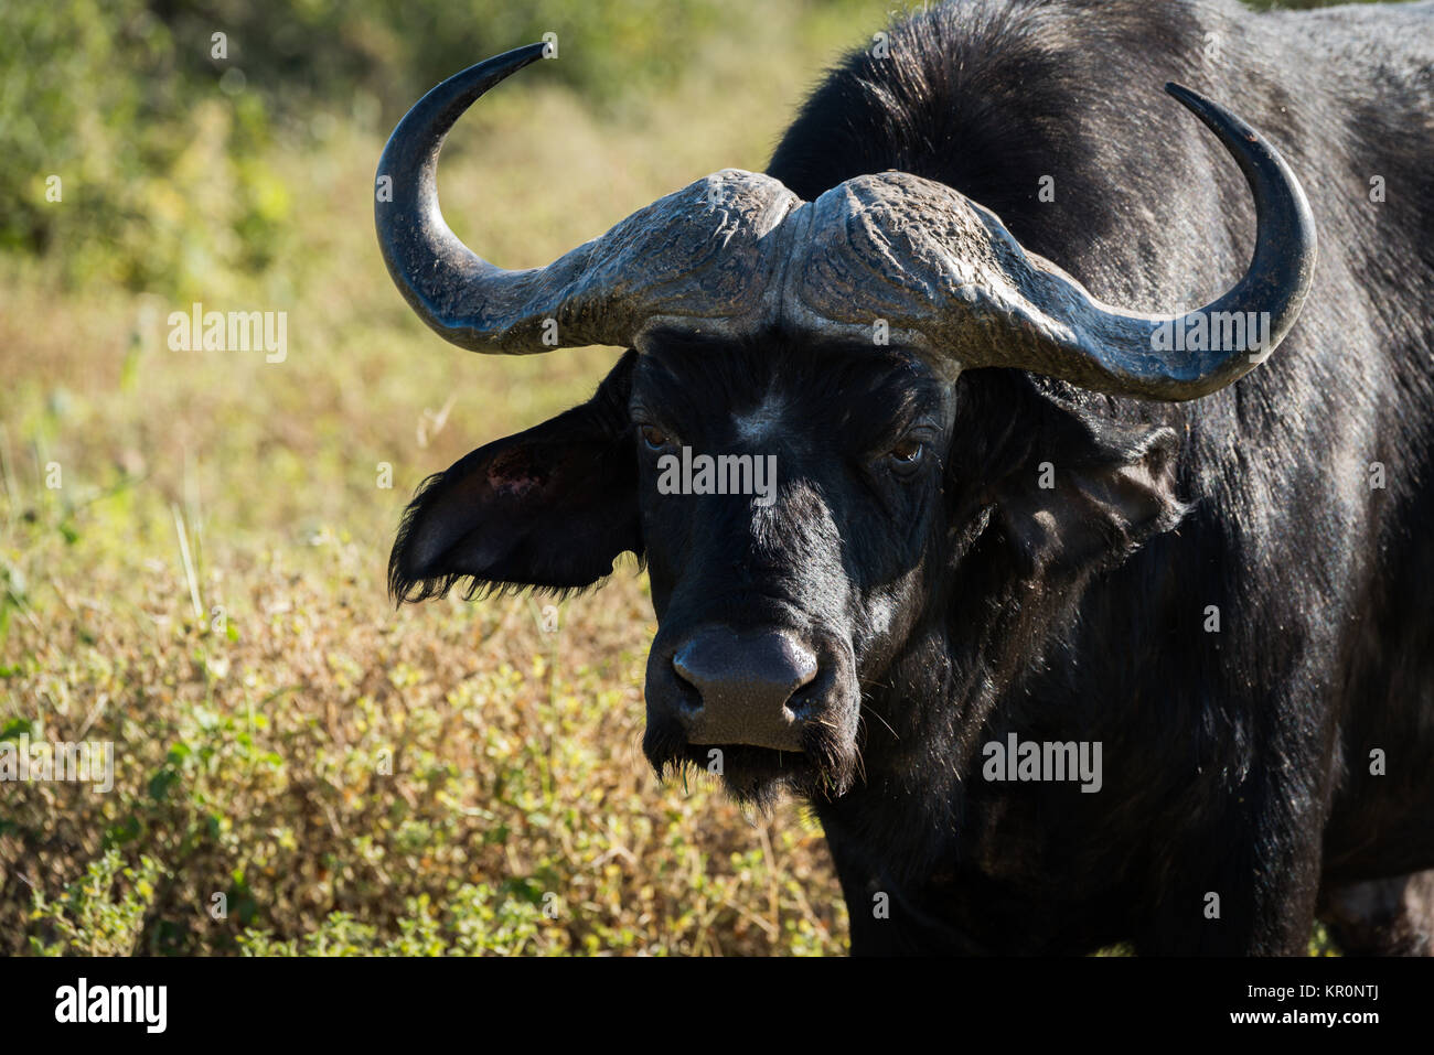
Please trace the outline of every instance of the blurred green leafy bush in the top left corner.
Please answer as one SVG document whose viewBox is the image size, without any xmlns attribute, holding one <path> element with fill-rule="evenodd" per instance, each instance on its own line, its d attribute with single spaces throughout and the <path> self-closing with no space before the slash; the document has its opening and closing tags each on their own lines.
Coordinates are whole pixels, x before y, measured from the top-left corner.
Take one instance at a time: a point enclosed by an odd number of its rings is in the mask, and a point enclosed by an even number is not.
<svg viewBox="0 0 1434 1055">
<path fill-rule="evenodd" d="M 181 294 L 268 264 L 290 202 L 255 161 L 267 106 L 185 76 L 175 46 L 141 0 L 0 6 L 0 248 Z"/>
</svg>

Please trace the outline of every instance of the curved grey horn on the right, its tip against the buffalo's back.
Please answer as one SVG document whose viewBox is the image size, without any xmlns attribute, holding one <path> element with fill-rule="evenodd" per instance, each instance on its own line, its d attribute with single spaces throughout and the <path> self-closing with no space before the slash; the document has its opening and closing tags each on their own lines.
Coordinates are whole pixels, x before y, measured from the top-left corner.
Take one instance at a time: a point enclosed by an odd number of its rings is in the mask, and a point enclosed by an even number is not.
<svg viewBox="0 0 1434 1055">
<path fill-rule="evenodd" d="M 1215 132 L 1255 195 L 1253 259 L 1212 304 L 1180 315 L 1101 304 L 1058 267 L 1025 252 L 988 209 L 941 183 L 886 172 L 850 179 L 812 204 L 784 315 L 847 335 L 885 318 L 958 368 L 1020 367 L 1117 396 L 1189 400 L 1235 381 L 1263 361 L 1299 314 L 1314 277 L 1314 218 L 1263 136 L 1187 87 L 1166 90 Z M 1217 340 L 1236 333 L 1236 320 L 1250 340 Z M 1265 320 L 1256 347 L 1246 324 Z M 1176 331 L 1183 338 L 1202 324 L 1205 350 L 1172 350 Z"/>
</svg>

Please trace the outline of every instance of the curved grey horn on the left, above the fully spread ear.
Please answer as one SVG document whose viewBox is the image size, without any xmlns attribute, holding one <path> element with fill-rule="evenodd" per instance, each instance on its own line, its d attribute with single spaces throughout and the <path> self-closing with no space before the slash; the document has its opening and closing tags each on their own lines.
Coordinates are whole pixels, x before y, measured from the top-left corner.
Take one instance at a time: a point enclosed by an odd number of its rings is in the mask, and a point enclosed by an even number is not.
<svg viewBox="0 0 1434 1055">
<path fill-rule="evenodd" d="M 420 99 L 389 138 L 374 224 L 394 284 L 453 344 L 526 354 L 628 345 L 647 324 L 760 314 L 779 254 L 763 238 L 797 205 L 769 176 L 727 169 L 634 212 L 545 268 L 505 271 L 472 252 L 439 211 L 437 158 L 453 122 L 488 89 L 543 56 L 529 44 L 457 73 Z"/>
</svg>

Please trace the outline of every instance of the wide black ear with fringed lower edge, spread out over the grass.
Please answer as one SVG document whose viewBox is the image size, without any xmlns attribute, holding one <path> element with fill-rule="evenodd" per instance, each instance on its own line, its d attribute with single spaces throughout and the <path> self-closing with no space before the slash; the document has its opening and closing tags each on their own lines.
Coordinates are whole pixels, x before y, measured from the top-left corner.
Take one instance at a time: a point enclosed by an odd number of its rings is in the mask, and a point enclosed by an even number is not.
<svg viewBox="0 0 1434 1055">
<path fill-rule="evenodd" d="M 637 452 L 628 420 L 635 351 L 588 401 L 495 440 L 429 477 L 403 515 L 389 558 L 399 601 L 489 588 L 576 589 L 642 555 Z"/>
</svg>

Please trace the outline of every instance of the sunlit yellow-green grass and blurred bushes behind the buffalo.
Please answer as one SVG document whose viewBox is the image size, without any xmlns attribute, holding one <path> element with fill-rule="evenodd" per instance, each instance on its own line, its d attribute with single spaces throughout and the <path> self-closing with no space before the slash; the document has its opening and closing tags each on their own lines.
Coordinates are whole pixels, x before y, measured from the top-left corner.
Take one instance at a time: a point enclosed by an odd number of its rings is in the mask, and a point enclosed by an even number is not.
<svg viewBox="0 0 1434 1055">
<path fill-rule="evenodd" d="M 116 754 L 110 794 L 0 786 L 0 953 L 845 947 L 810 818 L 647 770 L 642 578 L 556 614 L 387 603 L 419 480 L 615 353 L 440 344 L 379 259 L 371 181 L 427 87 L 556 33 L 443 168 L 460 235 L 545 264 L 761 169 L 892 7 L 0 6 L 0 740 Z M 288 312 L 288 357 L 171 351 L 194 301 Z"/>
</svg>

